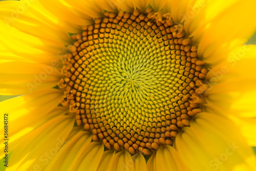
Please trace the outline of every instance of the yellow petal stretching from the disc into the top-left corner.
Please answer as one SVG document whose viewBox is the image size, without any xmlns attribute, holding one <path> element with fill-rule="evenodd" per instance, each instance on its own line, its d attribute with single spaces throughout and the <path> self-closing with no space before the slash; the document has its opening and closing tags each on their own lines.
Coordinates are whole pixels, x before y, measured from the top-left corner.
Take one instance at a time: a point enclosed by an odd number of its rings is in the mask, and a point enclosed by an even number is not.
<svg viewBox="0 0 256 171">
<path fill-rule="evenodd" d="M 14 15 L 13 9 L 24 9 L 23 13 L 18 14 L 17 19 L 11 18 Z M 67 32 L 62 32 L 61 30 L 52 27 L 45 22 L 42 22 L 39 18 L 34 16 L 19 1 L 5 1 L 0 6 L 0 17 L 5 18 L 5 25 L 9 27 L 15 27 L 16 29 L 23 31 L 27 34 L 44 38 L 53 41 L 60 45 L 69 45 L 72 40 Z M 7 22 L 9 19 L 9 22 Z"/>
</svg>

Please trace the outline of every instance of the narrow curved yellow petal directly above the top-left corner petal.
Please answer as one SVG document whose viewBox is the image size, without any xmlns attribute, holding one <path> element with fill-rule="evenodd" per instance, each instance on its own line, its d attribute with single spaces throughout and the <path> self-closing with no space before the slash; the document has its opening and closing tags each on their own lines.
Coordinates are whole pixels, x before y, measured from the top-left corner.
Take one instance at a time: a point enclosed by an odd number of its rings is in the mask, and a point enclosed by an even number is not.
<svg viewBox="0 0 256 171">
<path fill-rule="evenodd" d="M 60 19 L 59 17 L 53 15 L 37 0 L 21 0 L 21 2 L 27 7 L 28 11 L 53 27 L 68 33 L 79 33 L 81 31 L 79 25 L 66 22 L 66 20 Z"/>
</svg>

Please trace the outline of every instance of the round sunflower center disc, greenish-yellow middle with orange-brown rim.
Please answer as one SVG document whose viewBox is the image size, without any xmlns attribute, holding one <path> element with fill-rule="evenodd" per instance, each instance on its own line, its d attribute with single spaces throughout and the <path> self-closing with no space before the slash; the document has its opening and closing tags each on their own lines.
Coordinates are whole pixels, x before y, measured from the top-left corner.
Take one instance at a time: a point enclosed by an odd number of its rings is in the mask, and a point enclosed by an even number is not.
<svg viewBox="0 0 256 171">
<path fill-rule="evenodd" d="M 197 46 L 168 14 L 105 12 L 73 35 L 63 57 L 65 89 L 76 122 L 106 148 L 151 155 L 172 145 L 202 111 L 207 70 Z"/>
</svg>

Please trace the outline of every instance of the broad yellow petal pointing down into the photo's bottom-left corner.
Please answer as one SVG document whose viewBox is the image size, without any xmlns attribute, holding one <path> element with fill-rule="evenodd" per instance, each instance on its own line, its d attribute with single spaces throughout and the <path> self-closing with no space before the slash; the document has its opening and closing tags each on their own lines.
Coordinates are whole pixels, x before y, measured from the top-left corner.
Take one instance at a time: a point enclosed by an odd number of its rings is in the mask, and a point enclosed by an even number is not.
<svg viewBox="0 0 256 171">
<path fill-rule="evenodd" d="M 58 116 L 27 135 L 12 153 L 8 170 L 45 169 L 72 130 L 73 116 Z"/>
</svg>

